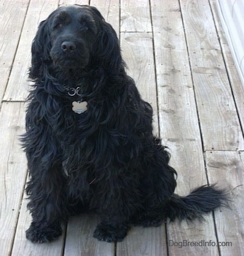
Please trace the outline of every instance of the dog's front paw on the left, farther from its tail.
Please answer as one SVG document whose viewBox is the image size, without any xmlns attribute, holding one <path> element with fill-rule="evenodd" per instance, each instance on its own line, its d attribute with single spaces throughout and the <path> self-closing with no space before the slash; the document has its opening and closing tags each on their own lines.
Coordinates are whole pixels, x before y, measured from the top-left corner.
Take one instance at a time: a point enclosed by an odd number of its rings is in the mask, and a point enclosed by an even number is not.
<svg viewBox="0 0 244 256">
<path fill-rule="evenodd" d="M 33 243 L 46 243 L 51 242 L 62 234 L 62 228 L 60 225 L 37 225 L 34 222 L 26 230 L 26 238 Z"/>
</svg>

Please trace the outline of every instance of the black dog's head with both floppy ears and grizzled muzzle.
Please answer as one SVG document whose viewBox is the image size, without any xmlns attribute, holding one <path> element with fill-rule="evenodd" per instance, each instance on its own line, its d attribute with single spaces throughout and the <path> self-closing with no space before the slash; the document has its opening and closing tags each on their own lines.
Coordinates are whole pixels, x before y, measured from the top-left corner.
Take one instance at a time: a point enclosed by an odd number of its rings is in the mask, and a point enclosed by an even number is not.
<svg viewBox="0 0 244 256">
<path fill-rule="evenodd" d="M 64 71 L 91 66 L 118 70 L 121 55 L 117 35 L 95 7 L 60 7 L 39 25 L 32 43 L 30 78 L 43 77 L 50 64 Z"/>
</svg>

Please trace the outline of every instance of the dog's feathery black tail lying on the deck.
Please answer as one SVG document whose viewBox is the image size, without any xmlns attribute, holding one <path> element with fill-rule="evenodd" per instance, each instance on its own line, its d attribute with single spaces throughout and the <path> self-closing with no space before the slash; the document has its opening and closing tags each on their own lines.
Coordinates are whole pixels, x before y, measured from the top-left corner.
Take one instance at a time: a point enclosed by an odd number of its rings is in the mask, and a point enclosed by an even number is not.
<svg viewBox="0 0 244 256">
<path fill-rule="evenodd" d="M 192 190 L 186 197 L 173 194 L 167 204 L 166 214 L 172 221 L 202 219 L 203 214 L 215 208 L 228 207 L 228 201 L 229 196 L 226 190 L 218 189 L 215 185 L 205 185 Z"/>
</svg>

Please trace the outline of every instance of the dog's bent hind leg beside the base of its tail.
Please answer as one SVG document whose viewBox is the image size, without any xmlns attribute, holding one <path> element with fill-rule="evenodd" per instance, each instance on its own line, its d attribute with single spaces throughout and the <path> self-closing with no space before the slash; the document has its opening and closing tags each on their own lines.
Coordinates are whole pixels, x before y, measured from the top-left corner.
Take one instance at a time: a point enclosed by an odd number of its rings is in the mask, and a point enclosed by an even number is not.
<svg viewBox="0 0 244 256">
<path fill-rule="evenodd" d="M 176 187 L 176 171 L 168 165 L 168 152 L 156 145 L 151 153 L 145 152 L 142 167 L 145 170 L 140 180 L 140 194 L 143 210 L 132 218 L 134 225 L 156 227 L 166 219 L 165 206 Z"/>
</svg>

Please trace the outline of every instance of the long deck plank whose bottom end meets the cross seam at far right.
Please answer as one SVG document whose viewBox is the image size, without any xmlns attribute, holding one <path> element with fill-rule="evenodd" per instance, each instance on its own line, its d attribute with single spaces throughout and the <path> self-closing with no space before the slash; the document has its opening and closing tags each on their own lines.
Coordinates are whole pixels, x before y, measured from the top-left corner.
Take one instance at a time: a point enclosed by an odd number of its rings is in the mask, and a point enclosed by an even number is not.
<svg viewBox="0 0 244 256">
<path fill-rule="evenodd" d="M 180 2 L 204 149 L 242 150 L 242 130 L 209 2 Z"/>
</svg>

